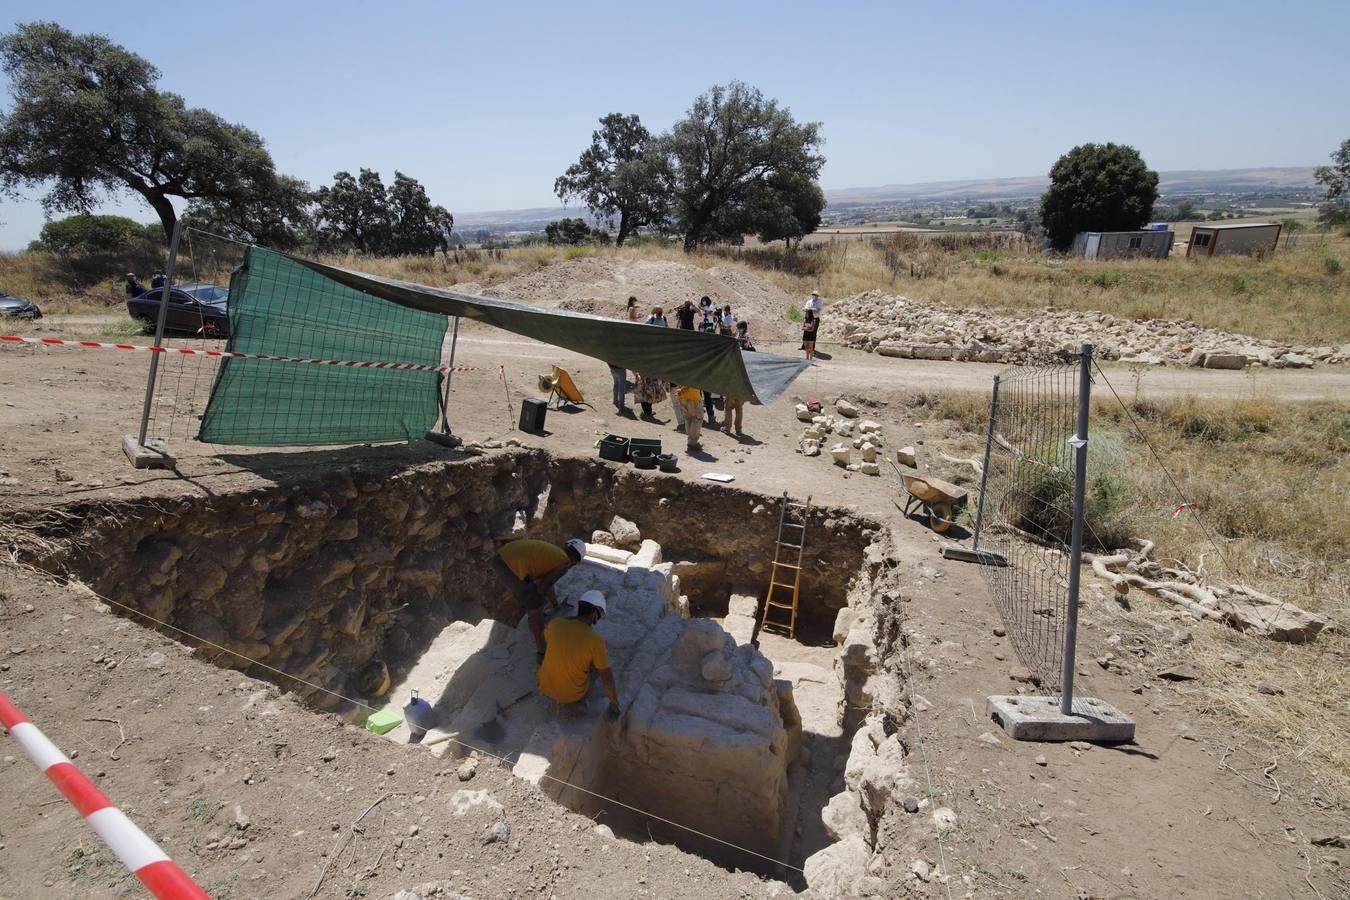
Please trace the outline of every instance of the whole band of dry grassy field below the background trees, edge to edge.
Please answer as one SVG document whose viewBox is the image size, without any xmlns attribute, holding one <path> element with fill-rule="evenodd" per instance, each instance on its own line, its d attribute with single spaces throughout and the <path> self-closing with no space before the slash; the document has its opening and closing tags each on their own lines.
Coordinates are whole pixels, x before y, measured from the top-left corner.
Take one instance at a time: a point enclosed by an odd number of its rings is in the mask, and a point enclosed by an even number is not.
<svg viewBox="0 0 1350 900">
<path fill-rule="evenodd" d="M 784 252 L 782 246 L 710 248 L 686 255 L 676 244 L 525 247 L 450 256 L 324 256 L 325 262 L 433 286 L 490 286 L 520 273 L 587 255 L 671 259 L 695 266 L 740 263 L 806 297 L 882 289 L 953 306 L 1046 306 L 1104 310 L 1127 318 L 1191 320 L 1256 337 L 1303 344 L 1350 341 L 1350 237 L 1301 233 L 1266 259 L 1139 259 L 1087 262 L 1042 254 L 1013 232 L 892 233 Z M 180 279 L 227 283 L 238 248 L 202 240 Z M 31 297 L 46 312 L 80 312 L 123 301 L 122 273 L 148 273 L 154 260 L 65 259 L 0 254 L 0 290 Z"/>
</svg>

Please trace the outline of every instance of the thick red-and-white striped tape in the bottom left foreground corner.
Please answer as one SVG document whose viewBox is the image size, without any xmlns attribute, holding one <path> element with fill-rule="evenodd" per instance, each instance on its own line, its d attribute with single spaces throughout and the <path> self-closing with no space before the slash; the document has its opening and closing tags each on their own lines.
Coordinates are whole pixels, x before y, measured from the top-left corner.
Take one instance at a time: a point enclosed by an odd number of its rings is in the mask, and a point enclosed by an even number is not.
<svg viewBox="0 0 1350 900">
<path fill-rule="evenodd" d="M 205 891 L 47 739 L 0 691 L 0 725 L 150 893 L 161 900 L 209 900 Z"/>
</svg>

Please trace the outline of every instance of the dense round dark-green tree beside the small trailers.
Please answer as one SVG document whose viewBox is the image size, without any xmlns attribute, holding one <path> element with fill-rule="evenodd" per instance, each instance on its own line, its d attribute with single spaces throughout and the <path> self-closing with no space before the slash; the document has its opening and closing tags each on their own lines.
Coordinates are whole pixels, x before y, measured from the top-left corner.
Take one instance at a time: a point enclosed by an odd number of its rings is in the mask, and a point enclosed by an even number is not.
<svg viewBox="0 0 1350 900">
<path fill-rule="evenodd" d="M 1041 224 L 1056 250 L 1083 231 L 1134 231 L 1153 215 L 1158 173 L 1125 144 L 1080 144 L 1050 169 Z"/>
</svg>

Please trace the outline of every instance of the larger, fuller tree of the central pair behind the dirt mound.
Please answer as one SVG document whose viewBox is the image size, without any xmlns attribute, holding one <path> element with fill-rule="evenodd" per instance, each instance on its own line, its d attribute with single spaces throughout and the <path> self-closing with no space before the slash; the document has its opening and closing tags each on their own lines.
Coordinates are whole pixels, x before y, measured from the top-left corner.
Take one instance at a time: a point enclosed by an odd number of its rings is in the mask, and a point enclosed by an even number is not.
<svg viewBox="0 0 1350 900">
<path fill-rule="evenodd" d="M 819 123 L 798 123 L 776 100 L 733 81 L 716 85 L 662 138 L 674 228 L 684 248 L 736 240 L 764 223 L 774 184 L 814 182 L 825 165 Z"/>
</svg>

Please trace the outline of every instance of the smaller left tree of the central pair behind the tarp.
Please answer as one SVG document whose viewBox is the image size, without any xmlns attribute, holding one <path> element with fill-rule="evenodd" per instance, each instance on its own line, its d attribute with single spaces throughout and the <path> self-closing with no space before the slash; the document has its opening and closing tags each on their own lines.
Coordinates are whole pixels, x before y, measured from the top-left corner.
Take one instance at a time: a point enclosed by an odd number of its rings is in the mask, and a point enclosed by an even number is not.
<svg viewBox="0 0 1350 900">
<path fill-rule="evenodd" d="M 660 161 L 653 151 L 652 134 L 637 116 L 612 112 L 591 132 L 580 159 L 554 182 L 554 193 L 563 202 L 580 198 L 597 219 L 617 219 L 614 244 L 622 247 L 634 228 L 664 217 Z"/>
</svg>

